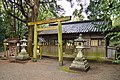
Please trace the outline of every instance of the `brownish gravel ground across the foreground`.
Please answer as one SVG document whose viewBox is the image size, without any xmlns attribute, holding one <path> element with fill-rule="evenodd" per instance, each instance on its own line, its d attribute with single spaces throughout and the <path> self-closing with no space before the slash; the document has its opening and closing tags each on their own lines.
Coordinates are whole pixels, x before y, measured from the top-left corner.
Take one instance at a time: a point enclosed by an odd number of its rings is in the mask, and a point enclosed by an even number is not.
<svg viewBox="0 0 120 80">
<path fill-rule="evenodd" d="M 64 61 L 69 66 L 71 61 Z M 89 62 L 88 72 L 70 73 L 59 69 L 58 61 L 43 58 L 38 62 L 0 60 L 0 80 L 120 80 L 120 65 Z"/>
</svg>

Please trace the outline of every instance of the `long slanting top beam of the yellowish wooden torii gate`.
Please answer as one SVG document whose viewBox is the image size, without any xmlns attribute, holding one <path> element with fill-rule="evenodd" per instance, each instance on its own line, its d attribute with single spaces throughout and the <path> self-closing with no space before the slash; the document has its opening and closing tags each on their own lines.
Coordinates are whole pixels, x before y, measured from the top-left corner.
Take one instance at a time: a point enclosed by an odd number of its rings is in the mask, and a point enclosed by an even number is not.
<svg viewBox="0 0 120 80">
<path fill-rule="evenodd" d="M 63 17 L 63 18 L 55 18 L 55 19 L 48 19 L 48 20 L 42 20 L 42 21 L 37 21 L 37 22 L 29 22 L 28 23 L 28 26 L 31 26 L 31 25 L 40 25 L 40 24 L 48 24 L 48 23 L 54 23 L 54 22 L 58 22 L 58 21 L 68 21 L 70 20 L 70 16 L 66 16 L 66 17 Z"/>
</svg>

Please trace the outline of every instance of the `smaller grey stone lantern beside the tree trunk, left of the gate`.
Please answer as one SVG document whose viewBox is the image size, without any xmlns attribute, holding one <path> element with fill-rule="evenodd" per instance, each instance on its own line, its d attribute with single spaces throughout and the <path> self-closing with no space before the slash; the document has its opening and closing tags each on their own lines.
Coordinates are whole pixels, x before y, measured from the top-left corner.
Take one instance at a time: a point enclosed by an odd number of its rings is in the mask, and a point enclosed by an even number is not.
<svg viewBox="0 0 120 80">
<path fill-rule="evenodd" d="M 18 60 L 28 60 L 30 59 L 29 54 L 27 54 L 26 51 L 26 46 L 27 46 L 27 40 L 25 39 L 25 37 L 20 41 L 21 42 L 21 52 L 18 54 L 17 59 Z"/>
</svg>

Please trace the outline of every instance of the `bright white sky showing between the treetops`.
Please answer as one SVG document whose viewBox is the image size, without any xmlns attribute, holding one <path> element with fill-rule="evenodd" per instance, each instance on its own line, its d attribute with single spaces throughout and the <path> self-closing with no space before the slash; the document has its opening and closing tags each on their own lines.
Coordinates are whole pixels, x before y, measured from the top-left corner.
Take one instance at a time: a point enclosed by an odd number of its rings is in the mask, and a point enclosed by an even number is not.
<svg viewBox="0 0 120 80">
<path fill-rule="evenodd" d="M 82 4 L 84 5 L 83 6 L 84 9 L 89 5 L 89 1 L 90 0 L 81 0 Z M 75 9 L 80 9 L 80 6 L 77 6 L 76 0 L 72 1 L 72 6 L 70 5 L 70 2 L 67 2 L 66 0 L 58 0 L 57 4 L 61 5 L 64 8 L 64 10 L 66 11 L 64 16 L 72 16 L 72 13 Z M 85 12 L 82 12 L 82 15 L 85 17 L 84 20 L 88 19 Z"/>
</svg>

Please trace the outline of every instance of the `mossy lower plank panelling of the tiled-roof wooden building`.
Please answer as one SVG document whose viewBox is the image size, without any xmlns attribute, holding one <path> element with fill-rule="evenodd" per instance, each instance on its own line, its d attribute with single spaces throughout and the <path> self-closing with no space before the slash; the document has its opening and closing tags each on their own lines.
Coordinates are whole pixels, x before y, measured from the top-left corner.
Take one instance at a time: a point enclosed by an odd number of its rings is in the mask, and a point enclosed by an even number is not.
<svg viewBox="0 0 120 80">
<path fill-rule="evenodd" d="M 75 48 L 66 49 L 64 46 L 63 52 L 65 55 L 72 56 L 77 51 L 75 51 Z M 106 57 L 105 52 L 106 52 L 105 47 L 90 47 L 90 48 L 85 48 L 83 50 L 83 54 L 86 58 L 105 58 Z M 43 54 L 58 56 L 58 47 L 57 46 L 44 46 Z"/>
</svg>

